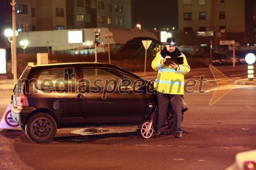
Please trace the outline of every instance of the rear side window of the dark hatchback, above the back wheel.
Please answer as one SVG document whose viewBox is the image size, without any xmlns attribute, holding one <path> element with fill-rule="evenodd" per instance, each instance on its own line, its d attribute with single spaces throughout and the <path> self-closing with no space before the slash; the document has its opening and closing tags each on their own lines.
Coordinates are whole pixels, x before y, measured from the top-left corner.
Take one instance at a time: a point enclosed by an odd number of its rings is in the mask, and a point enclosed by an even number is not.
<svg viewBox="0 0 256 170">
<path fill-rule="evenodd" d="M 75 69 L 62 68 L 42 71 L 37 78 L 35 87 L 40 90 L 48 91 L 75 91 Z"/>
</svg>

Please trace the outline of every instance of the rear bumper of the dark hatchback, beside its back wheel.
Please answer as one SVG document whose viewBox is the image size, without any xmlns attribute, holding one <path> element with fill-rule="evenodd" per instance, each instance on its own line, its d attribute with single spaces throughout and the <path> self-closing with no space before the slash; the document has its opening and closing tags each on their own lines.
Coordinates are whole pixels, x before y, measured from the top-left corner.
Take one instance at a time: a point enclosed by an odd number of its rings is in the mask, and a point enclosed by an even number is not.
<svg viewBox="0 0 256 170">
<path fill-rule="evenodd" d="M 32 106 L 12 106 L 12 118 L 19 125 L 25 125 L 26 120 L 32 111 L 36 110 Z"/>
</svg>

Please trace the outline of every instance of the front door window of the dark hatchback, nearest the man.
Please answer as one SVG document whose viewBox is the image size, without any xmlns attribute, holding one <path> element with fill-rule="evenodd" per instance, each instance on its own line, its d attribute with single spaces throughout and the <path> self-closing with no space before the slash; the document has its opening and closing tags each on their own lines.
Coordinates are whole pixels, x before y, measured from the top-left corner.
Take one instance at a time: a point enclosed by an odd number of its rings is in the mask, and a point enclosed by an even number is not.
<svg viewBox="0 0 256 170">
<path fill-rule="evenodd" d="M 81 91 L 116 91 L 133 90 L 139 87 L 139 82 L 135 78 L 115 69 L 109 68 L 83 68 L 83 80 L 79 85 Z"/>
</svg>

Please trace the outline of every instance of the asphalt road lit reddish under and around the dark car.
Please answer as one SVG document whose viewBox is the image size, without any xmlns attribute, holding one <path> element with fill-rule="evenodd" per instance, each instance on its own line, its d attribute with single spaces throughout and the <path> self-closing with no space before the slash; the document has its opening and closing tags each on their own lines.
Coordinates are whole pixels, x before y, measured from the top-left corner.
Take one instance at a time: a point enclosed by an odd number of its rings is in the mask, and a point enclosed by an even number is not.
<svg viewBox="0 0 256 170">
<path fill-rule="evenodd" d="M 223 74 L 231 80 L 246 76 L 229 66 Z M 237 85 L 210 106 L 217 83 L 209 68 L 197 69 L 187 79 L 202 75 L 208 80 L 205 92 L 199 93 L 197 85 L 185 96 L 189 110 L 181 139 L 143 139 L 137 127 L 100 127 L 60 129 L 51 143 L 34 144 L 18 128 L 2 129 L 0 169 L 225 169 L 237 153 L 256 149 L 256 86 Z M 11 91 L 0 94 L 2 117 Z"/>
</svg>

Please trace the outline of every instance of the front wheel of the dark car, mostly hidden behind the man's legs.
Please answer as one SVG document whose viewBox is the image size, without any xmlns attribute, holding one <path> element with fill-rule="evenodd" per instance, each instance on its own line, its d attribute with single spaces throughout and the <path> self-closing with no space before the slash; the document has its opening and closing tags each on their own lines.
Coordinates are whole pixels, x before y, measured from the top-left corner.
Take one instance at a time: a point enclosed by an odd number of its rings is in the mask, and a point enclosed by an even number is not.
<svg viewBox="0 0 256 170">
<path fill-rule="evenodd" d="M 158 122 L 157 113 L 158 113 L 158 109 L 153 119 L 153 127 L 155 132 L 157 132 L 157 122 Z M 177 117 L 174 116 L 174 114 L 172 113 L 172 108 L 170 107 L 168 107 L 168 110 L 166 112 L 166 125 L 168 125 L 168 128 L 165 130 L 165 134 L 170 135 L 174 133 L 175 127 L 177 126 Z"/>
</svg>

